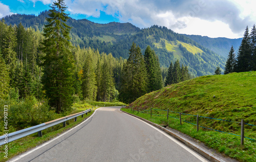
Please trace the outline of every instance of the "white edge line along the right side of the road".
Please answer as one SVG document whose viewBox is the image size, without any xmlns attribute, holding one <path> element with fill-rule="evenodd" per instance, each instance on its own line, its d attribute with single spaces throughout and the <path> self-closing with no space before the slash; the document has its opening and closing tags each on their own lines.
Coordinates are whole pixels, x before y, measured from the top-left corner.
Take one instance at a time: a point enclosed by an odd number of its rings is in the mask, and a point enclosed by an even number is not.
<svg viewBox="0 0 256 162">
<path fill-rule="evenodd" d="M 120 109 L 119 109 L 119 111 L 120 111 Z M 122 111 L 121 111 L 121 112 L 122 112 Z M 127 113 L 125 113 L 125 114 L 127 114 Z M 127 115 L 129 115 L 130 117 L 133 117 L 133 116 L 130 115 L 130 114 L 127 114 Z M 165 135 L 166 137 L 168 137 L 170 140 L 172 140 L 172 141 L 175 142 L 176 144 L 180 145 L 183 149 L 185 149 L 185 150 L 187 150 L 189 153 L 193 154 L 193 155 L 194 155 L 195 157 L 197 157 L 199 160 L 204 161 L 204 162 L 208 162 L 208 160 L 206 160 L 206 159 L 203 158 L 202 156 L 198 155 L 196 152 L 194 152 L 193 150 L 189 149 L 187 146 L 185 146 L 184 144 L 182 144 L 181 142 L 179 142 L 178 140 L 176 140 L 174 137 L 170 136 L 169 134 L 163 132 L 162 130 L 156 128 L 155 126 L 153 126 L 153 125 L 151 125 L 151 124 L 149 124 L 149 123 L 147 123 L 147 122 L 144 122 L 144 121 L 142 121 L 142 120 L 140 120 L 140 119 L 138 119 L 138 118 L 136 118 L 136 117 L 133 117 L 133 118 L 135 118 L 135 119 L 137 119 L 137 120 L 139 120 L 139 121 L 141 121 L 141 122 L 147 124 L 148 126 L 151 126 L 152 128 L 156 129 L 157 131 L 159 131 L 160 133 L 162 133 L 163 135 Z"/>
</svg>

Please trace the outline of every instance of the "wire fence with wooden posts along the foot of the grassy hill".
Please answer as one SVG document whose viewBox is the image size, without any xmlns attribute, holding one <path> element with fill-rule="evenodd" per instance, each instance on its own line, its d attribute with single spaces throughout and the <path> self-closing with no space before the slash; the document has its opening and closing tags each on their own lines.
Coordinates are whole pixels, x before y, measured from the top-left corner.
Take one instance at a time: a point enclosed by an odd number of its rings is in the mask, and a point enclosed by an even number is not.
<svg viewBox="0 0 256 162">
<path fill-rule="evenodd" d="M 123 106 L 122 108 L 124 108 L 124 107 L 125 106 Z M 175 111 L 171 111 L 169 109 L 167 109 L 167 110 L 153 109 L 153 108 L 142 109 L 142 108 L 139 108 L 139 107 L 132 107 L 132 106 L 127 106 L 126 108 L 131 108 L 132 112 L 134 112 L 134 111 L 136 112 L 137 111 L 137 112 L 141 112 L 141 113 L 145 113 L 145 114 L 150 114 L 151 117 L 153 115 L 153 116 L 157 116 L 157 117 L 166 117 L 167 119 L 168 118 L 177 119 L 177 120 L 180 120 L 180 125 L 182 125 L 182 122 L 185 122 L 185 123 L 197 126 L 197 131 L 198 131 L 199 127 L 201 127 L 201 128 L 204 128 L 204 129 L 209 129 L 209 130 L 214 130 L 214 131 L 218 131 L 218 132 L 222 132 L 222 133 L 227 133 L 227 134 L 231 134 L 231 135 L 240 136 L 241 137 L 241 145 L 244 144 L 244 138 L 247 138 L 247 139 L 252 140 L 252 141 L 256 141 L 256 139 L 244 136 L 244 125 L 256 127 L 256 125 L 244 123 L 244 120 L 241 120 L 241 122 L 236 122 L 236 121 L 230 121 L 230 120 L 223 120 L 223 119 L 216 119 L 216 118 L 210 118 L 210 117 L 203 117 L 203 116 L 194 115 L 194 114 L 186 114 L 186 113 L 181 113 L 181 112 L 175 112 Z M 163 114 L 163 113 L 166 113 L 166 114 Z M 179 114 L 178 118 L 173 117 L 172 115 L 169 115 L 169 114 L 175 114 L 175 113 Z M 195 124 L 195 123 L 192 123 L 191 121 L 186 121 L 186 120 L 182 119 L 182 115 L 196 117 L 196 122 L 197 123 Z M 230 132 L 225 132 L 225 131 L 221 131 L 221 130 L 217 130 L 217 129 L 208 128 L 206 126 L 201 126 L 201 125 L 199 125 L 199 118 L 210 119 L 210 120 L 218 120 L 218 121 L 229 122 L 229 123 L 237 123 L 237 124 L 241 125 L 241 135 L 230 133 Z"/>
</svg>

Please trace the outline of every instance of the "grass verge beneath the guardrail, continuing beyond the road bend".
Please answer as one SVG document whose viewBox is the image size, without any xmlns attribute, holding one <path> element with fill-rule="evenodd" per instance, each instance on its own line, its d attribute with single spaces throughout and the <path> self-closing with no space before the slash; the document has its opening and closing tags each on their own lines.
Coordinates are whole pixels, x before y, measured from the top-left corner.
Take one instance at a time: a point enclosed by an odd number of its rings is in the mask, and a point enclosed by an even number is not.
<svg viewBox="0 0 256 162">
<path fill-rule="evenodd" d="M 66 122 L 66 127 L 62 127 L 62 123 L 55 125 L 53 127 L 47 128 L 45 130 L 42 130 L 42 137 L 38 137 L 38 133 L 34 133 L 31 135 L 28 135 L 26 137 L 20 138 L 16 141 L 10 142 L 8 143 L 8 158 L 4 157 L 4 146 L 2 145 L 0 146 L 0 161 L 7 161 L 10 158 L 17 156 L 19 154 L 22 154 L 36 146 L 39 146 L 49 140 L 51 140 L 52 138 L 60 135 L 61 133 L 75 127 L 76 125 L 80 124 L 81 122 L 83 122 L 84 120 L 86 120 L 88 117 L 90 117 L 90 115 L 93 114 L 93 112 L 97 109 L 96 105 L 98 105 L 99 107 L 102 106 L 121 106 L 121 105 L 125 105 L 121 102 L 94 102 L 94 101 L 82 101 L 79 103 L 75 103 L 72 105 L 73 111 L 71 112 L 66 112 L 63 113 L 63 117 L 66 115 L 70 115 L 70 114 L 74 114 L 77 112 L 81 112 L 84 110 L 87 110 L 89 108 L 92 108 L 93 106 L 93 111 L 91 113 L 88 113 L 87 115 L 84 114 L 83 118 L 81 118 L 81 116 L 77 117 L 77 121 L 74 122 L 74 119 L 71 119 L 69 121 Z"/>
</svg>

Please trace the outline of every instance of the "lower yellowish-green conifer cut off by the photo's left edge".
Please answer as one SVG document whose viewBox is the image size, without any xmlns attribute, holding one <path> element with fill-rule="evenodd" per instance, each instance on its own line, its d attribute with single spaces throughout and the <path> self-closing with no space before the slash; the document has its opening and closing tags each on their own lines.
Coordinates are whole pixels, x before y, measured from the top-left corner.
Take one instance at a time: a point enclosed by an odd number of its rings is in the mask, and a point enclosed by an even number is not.
<svg viewBox="0 0 256 162">
<path fill-rule="evenodd" d="M 1 49 L 0 49 L 1 53 Z M 5 64 L 5 60 L 0 54 L 0 99 L 6 99 L 9 93 L 9 73 Z"/>
</svg>

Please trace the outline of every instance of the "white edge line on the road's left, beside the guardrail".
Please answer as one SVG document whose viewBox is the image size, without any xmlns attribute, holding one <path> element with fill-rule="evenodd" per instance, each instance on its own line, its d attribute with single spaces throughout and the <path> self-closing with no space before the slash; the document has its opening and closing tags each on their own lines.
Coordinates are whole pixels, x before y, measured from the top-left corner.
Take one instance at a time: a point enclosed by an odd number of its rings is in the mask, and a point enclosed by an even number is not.
<svg viewBox="0 0 256 162">
<path fill-rule="evenodd" d="M 98 109 L 100 109 L 100 108 L 98 108 Z M 95 113 L 98 109 L 96 109 L 96 110 L 94 111 L 94 113 Z M 36 148 L 30 150 L 30 151 L 28 151 L 28 152 L 26 152 L 26 153 L 24 153 L 24 154 L 18 156 L 18 157 L 15 158 L 15 159 L 11 159 L 10 162 L 17 161 L 17 160 L 23 158 L 24 156 L 27 156 L 28 154 L 30 154 L 30 153 L 32 153 L 32 152 L 34 152 L 34 151 L 36 151 L 36 150 L 38 150 L 38 149 L 40 149 L 40 148 L 42 148 L 42 147 L 48 145 L 48 144 L 50 144 L 51 142 L 57 140 L 57 139 L 58 139 L 59 137 L 61 137 L 62 135 L 67 134 L 68 132 L 70 132 L 70 131 L 72 131 L 73 129 L 77 128 L 78 126 L 82 125 L 84 122 L 88 121 L 90 118 L 92 118 L 92 116 L 94 115 L 94 113 L 93 113 L 89 118 L 87 118 L 87 120 L 83 121 L 82 123 L 80 123 L 79 125 L 75 126 L 74 128 L 71 128 L 70 130 L 66 131 L 65 133 L 60 134 L 59 136 L 57 136 L 57 137 L 53 138 L 52 140 L 48 141 L 47 143 L 42 144 L 42 145 L 40 145 L 40 146 L 38 146 L 38 147 L 36 147 Z"/>
</svg>

